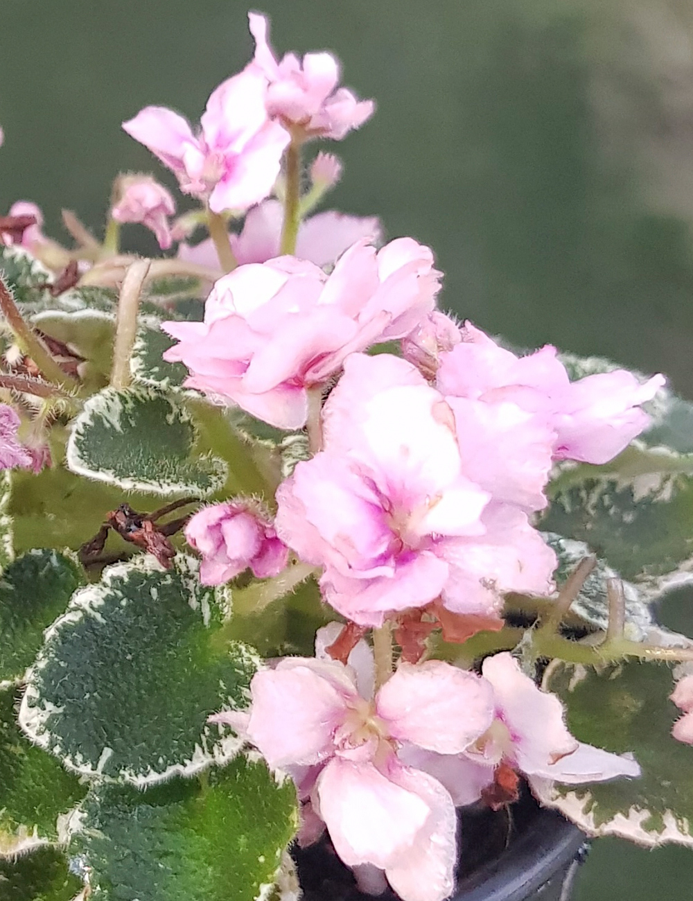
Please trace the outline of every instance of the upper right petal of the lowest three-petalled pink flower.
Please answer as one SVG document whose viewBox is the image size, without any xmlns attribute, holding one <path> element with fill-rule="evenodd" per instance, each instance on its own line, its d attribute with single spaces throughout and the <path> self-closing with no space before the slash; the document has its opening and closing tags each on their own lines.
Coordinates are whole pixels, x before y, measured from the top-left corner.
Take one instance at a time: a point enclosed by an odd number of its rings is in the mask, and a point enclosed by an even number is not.
<svg viewBox="0 0 693 901">
<path fill-rule="evenodd" d="M 476 674 L 427 660 L 400 663 L 376 696 L 378 715 L 400 742 L 428 751 L 458 754 L 493 722 L 493 690 Z"/>
</svg>

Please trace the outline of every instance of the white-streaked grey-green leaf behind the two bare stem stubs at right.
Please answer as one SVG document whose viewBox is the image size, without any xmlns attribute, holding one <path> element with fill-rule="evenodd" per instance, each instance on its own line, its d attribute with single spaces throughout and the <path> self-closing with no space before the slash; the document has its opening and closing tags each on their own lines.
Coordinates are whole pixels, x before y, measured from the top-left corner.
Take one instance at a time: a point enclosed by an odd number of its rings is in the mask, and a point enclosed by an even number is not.
<svg viewBox="0 0 693 901">
<path fill-rule="evenodd" d="M 559 584 L 565 582 L 570 573 L 592 553 L 585 542 L 563 538 L 555 532 L 543 532 L 545 542 L 558 558 L 558 568 L 553 576 Z M 604 560 L 597 560 L 597 566 L 585 579 L 578 596 L 570 605 L 570 613 L 577 614 L 584 623 L 606 631 L 609 621 L 609 604 L 606 596 L 606 580 L 619 578 L 619 574 Z M 633 642 L 641 642 L 652 629 L 654 622 L 647 604 L 647 597 L 632 582 L 623 582 L 625 596 L 625 637 Z"/>
</svg>

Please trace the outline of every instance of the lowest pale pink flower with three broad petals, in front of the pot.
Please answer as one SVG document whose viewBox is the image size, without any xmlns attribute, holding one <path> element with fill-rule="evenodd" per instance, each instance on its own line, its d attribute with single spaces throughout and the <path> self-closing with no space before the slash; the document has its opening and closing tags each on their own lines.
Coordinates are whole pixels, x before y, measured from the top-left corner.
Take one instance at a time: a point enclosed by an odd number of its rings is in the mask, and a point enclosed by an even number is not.
<svg viewBox="0 0 693 901">
<path fill-rule="evenodd" d="M 456 861 L 451 797 L 398 760 L 397 748 L 464 751 L 492 722 L 488 683 L 439 660 L 402 664 L 371 701 L 351 667 L 289 657 L 253 677 L 251 696 L 250 741 L 272 768 L 313 768 L 313 809 L 342 860 L 384 869 L 404 901 L 448 896 Z M 213 719 L 235 726 L 237 717 Z"/>
</svg>

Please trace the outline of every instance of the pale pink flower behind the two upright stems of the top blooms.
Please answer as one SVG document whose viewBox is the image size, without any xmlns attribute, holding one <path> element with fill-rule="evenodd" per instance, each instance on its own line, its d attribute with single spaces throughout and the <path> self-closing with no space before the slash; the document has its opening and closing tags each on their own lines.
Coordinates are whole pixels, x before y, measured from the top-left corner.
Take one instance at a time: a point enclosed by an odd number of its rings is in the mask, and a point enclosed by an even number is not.
<svg viewBox="0 0 693 901">
<path fill-rule="evenodd" d="M 245 217 L 242 232 L 230 234 L 233 256 L 240 264 L 265 263 L 278 256 L 284 211 L 278 200 L 265 200 L 253 206 Z M 381 238 L 377 216 L 360 218 L 328 210 L 306 219 L 298 229 L 296 253 L 298 259 L 307 259 L 315 266 L 332 266 L 334 261 L 356 241 L 367 239 L 378 242 Z M 211 239 L 191 247 L 181 244 L 180 259 L 200 266 L 216 268 L 219 265 Z"/>
</svg>

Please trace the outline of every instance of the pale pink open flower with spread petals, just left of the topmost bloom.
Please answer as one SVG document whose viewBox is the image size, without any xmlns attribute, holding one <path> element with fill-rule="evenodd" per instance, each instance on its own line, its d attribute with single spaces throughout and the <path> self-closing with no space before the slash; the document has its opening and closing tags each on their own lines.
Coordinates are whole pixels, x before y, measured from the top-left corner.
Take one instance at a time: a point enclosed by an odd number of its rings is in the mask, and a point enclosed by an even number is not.
<svg viewBox="0 0 693 901">
<path fill-rule="evenodd" d="M 247 210 L 269 195 L 289 135 L 265 111 L 267 81 L 247 68 L 218 86 L 194 133 L 163 106 L 146 106 L 123 129 L 175 172 L 180 188 L 214 213 Z"/>
</svg>

